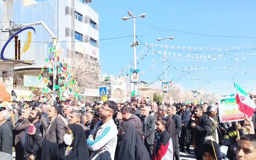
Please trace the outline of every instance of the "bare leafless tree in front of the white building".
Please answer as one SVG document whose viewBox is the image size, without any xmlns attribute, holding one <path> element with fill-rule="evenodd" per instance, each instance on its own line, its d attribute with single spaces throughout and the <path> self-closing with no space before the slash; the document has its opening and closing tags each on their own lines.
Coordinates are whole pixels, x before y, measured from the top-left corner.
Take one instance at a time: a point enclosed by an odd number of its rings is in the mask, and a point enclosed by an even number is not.
<svg viewBox="0 0 256 160">
<path fill-rule="evenodd" d="M 98 88 L 101 67 L 97 58 L 72 50 L 68 50 L 67 57 L 70 71 L 73 72 L 80 89 Z"/>
</svg>

